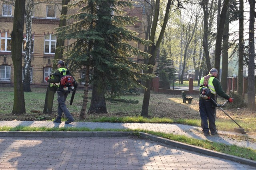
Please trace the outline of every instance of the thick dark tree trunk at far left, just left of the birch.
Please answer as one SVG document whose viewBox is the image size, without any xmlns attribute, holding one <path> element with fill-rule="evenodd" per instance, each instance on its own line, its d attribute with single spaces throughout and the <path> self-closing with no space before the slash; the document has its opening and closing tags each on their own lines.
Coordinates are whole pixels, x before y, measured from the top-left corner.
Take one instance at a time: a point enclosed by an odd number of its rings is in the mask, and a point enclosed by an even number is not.
<svg viewBox="0 0 256 170">
<path fill-rule="evenodd" d="M 25 15 L 25 0 L 16 0 L 12 37 L 12 63 L 14 67 L 14 103 L 12 113 L 26 113 L 22 85 L 22 42 Z"/>
</svg>

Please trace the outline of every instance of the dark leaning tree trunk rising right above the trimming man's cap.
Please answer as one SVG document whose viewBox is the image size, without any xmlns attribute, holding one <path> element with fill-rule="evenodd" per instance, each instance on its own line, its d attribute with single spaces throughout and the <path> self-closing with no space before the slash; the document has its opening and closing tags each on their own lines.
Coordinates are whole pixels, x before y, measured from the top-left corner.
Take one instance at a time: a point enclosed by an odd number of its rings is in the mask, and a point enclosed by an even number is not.
<svg viewBox="0 0 256 170">
<path fill-rule="evenodd" d="M 221 14 L 220 14 L 220 24 L 218 25 L 218 30 L 217 30 L 214 68 L 216 68 L 218 71 L 220 71 L 221 45 L 222 45 L 222 37 L 223 37 L 226 15 L 228 11 L 228 4 L 229 4 L 229 0 L 224 0 Z"/>
</svg>

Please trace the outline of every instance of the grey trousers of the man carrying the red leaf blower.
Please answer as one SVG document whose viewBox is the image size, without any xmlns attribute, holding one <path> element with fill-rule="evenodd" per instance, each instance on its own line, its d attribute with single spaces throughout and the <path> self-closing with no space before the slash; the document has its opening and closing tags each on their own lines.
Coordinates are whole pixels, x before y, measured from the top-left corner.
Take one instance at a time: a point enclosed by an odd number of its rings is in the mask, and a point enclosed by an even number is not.
<svg viewBox="0 0 256 170">
<path fill-rule="evenodd" d="M 62 113 L 64 113 L 64 115 L 68 118 L 68 120 L 74 120 L 65 104 L 69 92 L 57 91 L 57 94 L 58 94 L 58 116 L 56 119 L 61 119 Z"/>
</svg>

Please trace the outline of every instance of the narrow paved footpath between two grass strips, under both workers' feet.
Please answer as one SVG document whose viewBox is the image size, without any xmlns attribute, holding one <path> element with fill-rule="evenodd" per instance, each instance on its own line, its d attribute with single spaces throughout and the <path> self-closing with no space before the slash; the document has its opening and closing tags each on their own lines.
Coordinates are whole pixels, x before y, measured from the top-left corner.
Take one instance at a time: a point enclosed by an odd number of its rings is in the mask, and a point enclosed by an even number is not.
<svg viewBox="0 0 256 170">
<path fill-rule="evenodd" d="M 52 121 L 0 121 L 0 126 L 30 126 L 30 127 L 88 127 L 90 129 L 144 129 L 164 133 L 173 133 L 175 135 L 185 135 L 196 139 L 209 140 L 213 142 L 224 143 L 227 145 L 237 145 L 240 147 L 249 147 L 256 149 L 256 136 L 240 134 L 235 132 L 218 131 L 218 135 L 204 136 L 201 128 L 196 126 L 170 124 L 170 123 L 100 123 L 100 122 L 72 122 L 70 124 L 52 123 Z M 239 139 L 234 138 L 239 136 Z M 254 140 L 250 140 L 254 139 Z"/>
</svg>

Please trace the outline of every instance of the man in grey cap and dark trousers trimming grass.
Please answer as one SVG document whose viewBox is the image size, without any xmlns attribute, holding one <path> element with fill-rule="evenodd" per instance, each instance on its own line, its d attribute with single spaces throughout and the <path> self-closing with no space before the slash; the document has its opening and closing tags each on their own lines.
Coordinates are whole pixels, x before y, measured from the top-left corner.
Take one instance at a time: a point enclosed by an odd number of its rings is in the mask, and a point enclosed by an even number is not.
<svg viewBox="0 0 256 170">
<path fill-rule="evenodd" d="M 212 102 L 212 99 L 216 102 L 216 95 L 225 98 L 228 102 L 233 102 L 223 90 L 220 81 L 216 78 L 218 76 L 218 70 L 212 68 L 208 75 L 204 76 L 200 80 L 200 98 L 199 98 L 199 112 L 201 117 L 201 127 L 205 136 L 218 133 L 215 125 L 215 109 L 216 104 Z M 209 121 L 209 125 L 208 125 Z"/>
</svg>

